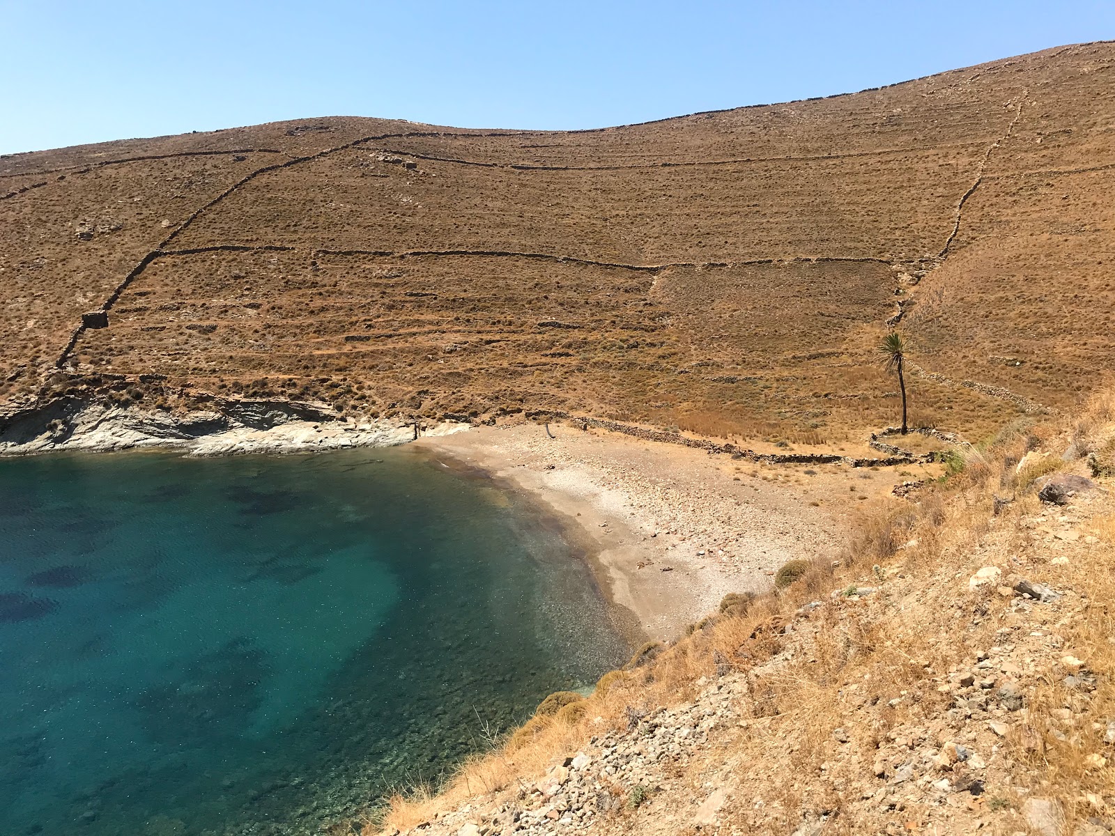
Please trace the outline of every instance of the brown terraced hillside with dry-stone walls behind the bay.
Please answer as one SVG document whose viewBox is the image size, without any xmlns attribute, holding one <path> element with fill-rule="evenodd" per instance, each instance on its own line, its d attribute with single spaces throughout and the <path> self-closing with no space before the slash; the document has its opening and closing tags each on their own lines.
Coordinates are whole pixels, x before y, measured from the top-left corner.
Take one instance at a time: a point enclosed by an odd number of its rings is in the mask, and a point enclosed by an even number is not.
<svg viewBox="0 0 1115 836">
<path fill-rule="evenodd" d="M 895 417 L 898 322 L 915 420 L 979 436 L 1115 356 L 1113 185 L 1113 43 L 601 130 L 338 117 L 13 155 L 0 398 L 841 441 Z"/>
</svg>

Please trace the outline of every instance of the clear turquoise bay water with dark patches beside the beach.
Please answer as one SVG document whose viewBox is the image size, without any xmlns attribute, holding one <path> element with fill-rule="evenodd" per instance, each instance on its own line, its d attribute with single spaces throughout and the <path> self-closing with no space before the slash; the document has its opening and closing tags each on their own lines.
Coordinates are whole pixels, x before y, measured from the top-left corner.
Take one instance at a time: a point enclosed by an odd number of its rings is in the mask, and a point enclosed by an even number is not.
<svg viewBox="0 0 1115 836">
<path fill-rule="evenodd" d="M 552 521 L 407 448 L 0 460 L 0 833 L 319 833 L 628 648 Z"/>
</svg>

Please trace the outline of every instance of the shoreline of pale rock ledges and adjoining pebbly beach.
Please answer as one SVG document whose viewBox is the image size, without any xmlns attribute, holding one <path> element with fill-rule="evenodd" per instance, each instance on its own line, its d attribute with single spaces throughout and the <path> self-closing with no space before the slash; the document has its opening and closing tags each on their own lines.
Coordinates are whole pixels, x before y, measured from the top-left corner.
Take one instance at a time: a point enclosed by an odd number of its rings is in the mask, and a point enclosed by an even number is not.
<svg viewBox="0 0 1115 836">
<path fill-rule="evenodd" d="M 55 407 L 9 417 L 0 457 L 128 449 L 292 455 L 414 445 L 552 515 L 632 644 L 673 641 L 715 613 L 725 595 L 768 589 L 787 561 L 834 553 L 837 516 L 845 516 L 834 512 L 847 509 L 847 495 L 830 489 L 821 508 L 807 500 L 820 495 L 797 485 L 843 485 L 853 467 L 830 464 L 818 476 L 809 463 L 716 456 L 583 422 L 551 424 L 551 436 L 533 422 L 445 421 L 414 439 L 411 424 L 357 422 L 324 405 L 290 401 L 229 401 L 220 412 L 177 416 L 80 402 Z"/>
</svg>

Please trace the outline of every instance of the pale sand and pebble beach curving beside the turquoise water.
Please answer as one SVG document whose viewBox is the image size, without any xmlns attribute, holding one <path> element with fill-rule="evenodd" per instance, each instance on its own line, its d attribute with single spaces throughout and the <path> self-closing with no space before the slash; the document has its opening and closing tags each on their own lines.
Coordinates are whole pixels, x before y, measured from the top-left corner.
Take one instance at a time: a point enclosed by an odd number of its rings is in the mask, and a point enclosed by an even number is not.
<svg viewBox="0 0 1115 836">
<path fill-rule="evenodd" d="M 846 503 L 828 497 L 836 482 L 846 490 L 845 468 L 766 470 L 619 434 L 550 430 L 553 438 L 535 424 L 479 427 L 415 444 L 571 523 L 601 590 L 648 639 L 678 638 L 727 593 L 767 589 L 786 561 L 832 554 L 838 542 Z"/>
</svg>

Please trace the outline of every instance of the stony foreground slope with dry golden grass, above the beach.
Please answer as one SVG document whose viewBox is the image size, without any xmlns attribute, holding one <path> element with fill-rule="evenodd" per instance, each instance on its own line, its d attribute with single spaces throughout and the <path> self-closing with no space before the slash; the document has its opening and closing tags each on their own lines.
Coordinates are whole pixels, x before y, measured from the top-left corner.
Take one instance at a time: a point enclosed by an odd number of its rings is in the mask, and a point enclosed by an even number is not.
<svg viewBox="0 0 1115 836">
<path fill-rule="evenodd" d="M 1111 393 L 969 448 L 363 833 L 1107 836 L 1113 474 Z"/>
</svg>

